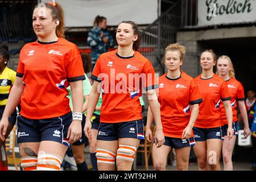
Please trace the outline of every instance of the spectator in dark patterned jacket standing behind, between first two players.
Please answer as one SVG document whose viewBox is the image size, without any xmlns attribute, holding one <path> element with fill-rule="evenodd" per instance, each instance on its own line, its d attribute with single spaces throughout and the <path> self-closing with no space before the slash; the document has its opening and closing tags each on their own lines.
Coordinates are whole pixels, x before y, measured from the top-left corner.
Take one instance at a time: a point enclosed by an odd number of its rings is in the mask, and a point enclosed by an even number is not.
<svg viewBox="0 0 256 182">
<path fill-rule="evenodd" d="M 92 68 L 98 57 L 114 47 L 114 39 L 107 30 L 107 19 L 104 16 L 96 16 L 92 30 L 88 33 L 87 43 L 92 48 Z"/>
</svg>

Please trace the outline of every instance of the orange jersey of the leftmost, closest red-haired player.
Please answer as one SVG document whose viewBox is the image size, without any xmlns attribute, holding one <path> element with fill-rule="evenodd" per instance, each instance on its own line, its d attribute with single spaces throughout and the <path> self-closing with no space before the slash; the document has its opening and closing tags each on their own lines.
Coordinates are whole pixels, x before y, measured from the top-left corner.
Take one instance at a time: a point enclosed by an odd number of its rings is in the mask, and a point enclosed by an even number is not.
<svg viewBox="0 0 256 182">
<path fill-rule="evenodd" d="M 20 115 L 28 119 L 69 113 L 66 88 L 69 82 L 85 79 L 79 49 L 63 38 L 26 44 L 20 51 L 16 76 L 22 77 L 24 84 Z"/>
</svg>

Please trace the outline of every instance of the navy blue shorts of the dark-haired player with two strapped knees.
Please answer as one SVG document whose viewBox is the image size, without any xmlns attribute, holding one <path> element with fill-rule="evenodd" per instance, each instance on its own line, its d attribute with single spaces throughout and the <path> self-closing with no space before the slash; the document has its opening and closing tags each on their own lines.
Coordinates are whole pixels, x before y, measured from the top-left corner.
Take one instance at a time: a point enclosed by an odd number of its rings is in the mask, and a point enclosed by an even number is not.
<svg viewBox="0 0 256 182">
<path fill-rule="evenodd" d="M 143 119 L 122 123 L 100 123 L 97 140 L 114 141 L 118 138 L 144 139 Z"/>
</svg>

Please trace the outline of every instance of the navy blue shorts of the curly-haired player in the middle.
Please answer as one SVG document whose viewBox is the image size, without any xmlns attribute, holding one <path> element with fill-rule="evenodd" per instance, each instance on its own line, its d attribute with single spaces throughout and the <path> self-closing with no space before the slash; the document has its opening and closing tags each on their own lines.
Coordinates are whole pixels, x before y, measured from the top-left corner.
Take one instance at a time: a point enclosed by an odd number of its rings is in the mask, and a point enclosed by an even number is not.
<svg viewBox="0 0 256 182">
<path fill-rule="evenodd" d="M 172 148 L 183 148 L 194 146 L 196 144 L 195 139 L 193 137 L 189 139 L 164 137 L 164 139 L 166 141 L 164 142 L 164 145 Z"/>
</svg>

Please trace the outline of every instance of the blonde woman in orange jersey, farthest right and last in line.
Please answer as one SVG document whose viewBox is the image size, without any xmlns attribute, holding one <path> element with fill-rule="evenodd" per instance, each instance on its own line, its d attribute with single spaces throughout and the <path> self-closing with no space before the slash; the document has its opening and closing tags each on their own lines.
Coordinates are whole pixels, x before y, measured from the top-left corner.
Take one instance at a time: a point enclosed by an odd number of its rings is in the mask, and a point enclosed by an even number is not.
<svg viewBox="0 0 256 182">
<path fill-rule="evenodd" d="M 238 135 L 237 131 L 237 103 L 239 110 L 241 112 L 241 117 L 244 124 L 244 135 L 247 138 L 250 135 L 247 111 L 245 107 L 245 93 L 243 90 L 243 86 L 241 82 L 237 81 L 235 78 L 234 67 L 229 56 L 221 56 L 217 61 L 217 75 L 223 78 L 228 84 L 229 93 L 231 96 L 231 106 L 233 111 L 233 134 L 232 139 L 228 140 L 227 138 L 227 129 L 228 129 L 228 121 L 226 119 L 226 113 L 224 109 L 223 102 L 221 102 L 221 118 L 223 125 L 222 136 L 224 136 L 223 146 L 222 146 L 222 158 L 224 163 L 224 170 L 230 171 L 233 170 L 232 164 L 232 153 L 234 149 L 234 144 L 236 143 L 236 135 Z"/>
</svg>

